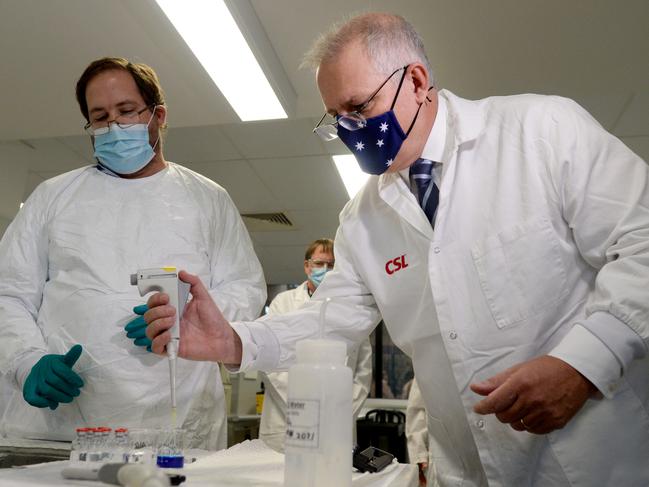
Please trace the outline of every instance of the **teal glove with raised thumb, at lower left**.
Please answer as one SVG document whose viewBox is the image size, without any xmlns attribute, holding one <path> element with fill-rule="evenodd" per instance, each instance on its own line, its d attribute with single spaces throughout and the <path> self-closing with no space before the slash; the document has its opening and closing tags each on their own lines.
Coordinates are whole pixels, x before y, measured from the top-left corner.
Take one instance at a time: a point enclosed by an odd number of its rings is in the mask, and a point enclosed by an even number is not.
<svg viewBox="0 0 649 487">
<path fill-rule="evenodd" d="M 65 355 L 48 354 L 36 362 L 27 376 L 23 397 L 32 406 L 54 410 L 59 403 L 68 403 L 81 393 L 83 380 L 72 370 L 81 356 L 81 345 L 73 346 Z"/>
</svg>

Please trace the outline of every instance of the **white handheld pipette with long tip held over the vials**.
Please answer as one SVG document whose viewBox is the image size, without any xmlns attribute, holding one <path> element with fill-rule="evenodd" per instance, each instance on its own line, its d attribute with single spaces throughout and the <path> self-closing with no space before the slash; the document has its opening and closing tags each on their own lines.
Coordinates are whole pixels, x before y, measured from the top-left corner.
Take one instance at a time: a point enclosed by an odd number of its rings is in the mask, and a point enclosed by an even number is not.
<svg viewBox="0 0 649 487">
<path fill-rule="evenodd" d="M 169 329 L 171 340 L 167 344 L 169 358 L 169 384 L 171 389 L 171 422 L 176 425 L 176 357 L 180 346 L 180 317 L 182 316 L 190 285 L 178 279 L 175 267 L 141 269 L 131 274 L 131 284 L 137 286 L 140 296 L 150 292 L 162 292 L 169 296 L 169 304 L 176 308 L 174 325 Z"/>
</svg>

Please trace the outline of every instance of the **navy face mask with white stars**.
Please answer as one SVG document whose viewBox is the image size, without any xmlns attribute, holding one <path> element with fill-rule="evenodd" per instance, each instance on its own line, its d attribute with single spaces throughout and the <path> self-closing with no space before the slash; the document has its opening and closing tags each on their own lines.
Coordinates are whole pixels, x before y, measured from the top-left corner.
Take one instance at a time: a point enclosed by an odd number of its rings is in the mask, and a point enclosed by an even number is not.
<svg viewBox="0 0 649 487">
<path fill-rule="evenodd" d="M 421 104 L 415 113 L 414 118 L 404 132 L 394 114 L 393 108 L 397 101 L 401 85 L 406 75 L 407 67 L 403 69 L 403 75 L 399 81 L 397 93 L 394 95 L 390 110 L 368 119 L 354 119 L 345 115 L 336 117 L 338 122 L 338 137 L 347 148 L 352 151 L 361 169 L 369 174 L 383 174 L 392 165 L 395 157 L 401 149 L 403 141 L 406 140 L 412 127 L 415 125 Z M 396 71 L 395 71 L 396 73 Z M 392 73 L 394 74 L 394 73 Z M 390 78 L 388 78 L 390 79 Z M 387 82 L 388 80 L 386 80 Z M 385 84 L 385 83 L 384 83 Z M 384 86 L 381 85 L 379 90 Z M 372 98 L 379 92 L 377 90 Z M 372 99 L 370 98 L 370 100 Z M 369 103 L 370 100 L 366 102 Z M 347 125 L 347 127 L 345 127 Z"/>
</svg>

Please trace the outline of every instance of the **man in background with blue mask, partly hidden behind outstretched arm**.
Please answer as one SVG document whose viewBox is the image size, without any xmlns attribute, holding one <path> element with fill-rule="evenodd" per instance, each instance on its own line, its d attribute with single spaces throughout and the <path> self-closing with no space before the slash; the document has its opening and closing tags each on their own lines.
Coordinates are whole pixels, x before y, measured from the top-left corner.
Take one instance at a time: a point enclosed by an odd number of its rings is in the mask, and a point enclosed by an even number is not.
<svg viewBox="0 0 649 487">
<path fill-rule="evenodd" d="M 304 254 L 304 273 L 307 280 L 295 289 L 278 294 L 270 303 L 269 315 L 281 315 L 299 309 L 307 303 L 325 275 L 334 267 L 334 242 L 321 238 L 311 242 Z M 365 340 L 352 349 L 347 365 L 353 372 L 352 412 L 356 419 L 360 413 L 372 381 L 372 345 Z M 259 425 L 259 438 L 276 451 L 284 451 L 286 437 L 286 393 L 288 372 L 264 374 L 266 394 Z"/>
</svg>

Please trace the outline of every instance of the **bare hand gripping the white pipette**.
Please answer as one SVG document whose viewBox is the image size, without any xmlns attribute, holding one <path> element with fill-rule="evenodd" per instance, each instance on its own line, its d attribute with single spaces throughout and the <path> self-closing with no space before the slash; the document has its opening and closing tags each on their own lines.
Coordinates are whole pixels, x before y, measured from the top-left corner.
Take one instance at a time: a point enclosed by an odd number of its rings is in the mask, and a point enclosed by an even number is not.
<svg viewBox="0 0 649 487">
<path fill-rule="evenodd" d="M 192 294 L 180 320 L 178 355 L 190 360 L 240 364 L 241 339 L 223 317 L 201 280 L 185 271 L 180 271 L 178 277 L 191 285 Z M 149 310 L 144 313 L 148 324 L 146 335 L 152 340 L 151 349 L 157 354 L 165 352 L 171 339 L 168 330 L 174 324 L 176 309 L 168 303 L 169 296 L 156 293 L 147 301 Z"/>
</svg>

